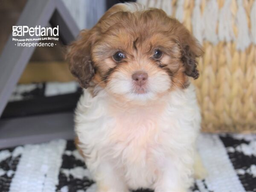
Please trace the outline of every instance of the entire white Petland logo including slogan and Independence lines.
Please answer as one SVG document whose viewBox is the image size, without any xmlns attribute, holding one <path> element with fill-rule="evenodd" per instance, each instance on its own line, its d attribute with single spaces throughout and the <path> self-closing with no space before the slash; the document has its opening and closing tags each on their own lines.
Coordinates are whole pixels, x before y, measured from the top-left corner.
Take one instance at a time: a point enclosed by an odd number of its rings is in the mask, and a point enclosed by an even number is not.
<svg viewBox="0 0 256 192">
<path fill-rule="evenodd" d="M 12 26 L 12 41 L 17 42 L 15 44 L 17 47 L 53 47 L 56 44 L 52 41 L 59 40 L 58 29 L 58 26 L 54 28 L 40 25 L 35 27 Z"/>
</svg>

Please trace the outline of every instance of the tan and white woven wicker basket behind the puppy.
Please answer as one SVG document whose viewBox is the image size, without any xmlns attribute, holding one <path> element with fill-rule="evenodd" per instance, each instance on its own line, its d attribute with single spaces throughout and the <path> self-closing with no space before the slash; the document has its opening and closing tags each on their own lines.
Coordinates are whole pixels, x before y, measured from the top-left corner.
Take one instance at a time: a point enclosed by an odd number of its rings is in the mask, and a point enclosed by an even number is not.
<svg viewBox="0 0 256 192">
<path fill-rule="evenodd" d="M 182 22 L 204 46 L 196 86 L 206 132 L 256 133 L 256 0 L 137 0 Z"/>
</svg>

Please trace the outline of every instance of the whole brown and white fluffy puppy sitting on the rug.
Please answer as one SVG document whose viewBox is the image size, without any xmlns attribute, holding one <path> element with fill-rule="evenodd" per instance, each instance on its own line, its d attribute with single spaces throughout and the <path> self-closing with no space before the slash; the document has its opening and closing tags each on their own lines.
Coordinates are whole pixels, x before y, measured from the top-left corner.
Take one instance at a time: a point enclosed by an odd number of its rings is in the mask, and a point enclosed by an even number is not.
<svg viewBox="0 0 256 192">
<path fill-rule="evenodd" d="M 184 192 L 192 184 L 201 116 L 195 88 L 198 41 L 160 9 L 120 3 L 70 45 L 84 93 L 77 145 L 98 192 Z"/>
</svg>

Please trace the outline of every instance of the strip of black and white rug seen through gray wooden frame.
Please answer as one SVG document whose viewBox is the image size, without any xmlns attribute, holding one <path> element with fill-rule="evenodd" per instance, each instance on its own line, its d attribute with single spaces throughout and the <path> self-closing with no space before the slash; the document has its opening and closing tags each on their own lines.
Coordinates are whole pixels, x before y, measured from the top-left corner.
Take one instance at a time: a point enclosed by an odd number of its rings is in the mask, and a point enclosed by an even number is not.
<svg viewBox="0 0 256 192">
<path fill-rule="evenodd" d="M 17 84 L 0 119 L 72 112 L 81 93 L 76 81 Z"/>
</svg>

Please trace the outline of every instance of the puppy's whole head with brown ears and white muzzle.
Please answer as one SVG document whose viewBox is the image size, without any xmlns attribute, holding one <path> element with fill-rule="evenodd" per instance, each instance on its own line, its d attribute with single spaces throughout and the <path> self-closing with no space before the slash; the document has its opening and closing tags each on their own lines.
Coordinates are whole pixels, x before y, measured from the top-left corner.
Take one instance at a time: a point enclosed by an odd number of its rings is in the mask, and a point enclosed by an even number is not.
<svg viewBox="0 0 256 192">
<path fill-rule="evenodd" d="M 117 98 L 148 101 L 197 79 L 201 46 L 160 9 L 117 4 L 70 45 L 70 70 L 82 87 L 103 87 Z"/>
</svg>

